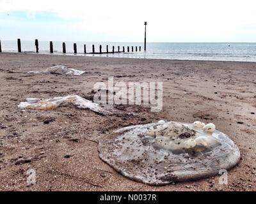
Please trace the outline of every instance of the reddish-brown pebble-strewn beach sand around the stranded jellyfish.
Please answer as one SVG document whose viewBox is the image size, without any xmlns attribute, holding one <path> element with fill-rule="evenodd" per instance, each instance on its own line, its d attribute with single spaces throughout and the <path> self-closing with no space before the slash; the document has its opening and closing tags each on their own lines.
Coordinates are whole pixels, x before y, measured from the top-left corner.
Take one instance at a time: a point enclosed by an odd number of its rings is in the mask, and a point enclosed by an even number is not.
<svg viewBox="0 0 256 204">
<path fill-rule="evenodd" d="M 29 75 L 65 65 L 79 77 Z M 163 110 L 115 105 L 116 115 L 67 106 L 26 110 L 26 98 L 77 94 L 93 98 L 93 85 L 107 82 L 163 82 Z M 172 61 L 40 54 L 0 54 L 0 191 L 256 191 L 256 62 Z M 98 143 L 114 130 L 160 119 L 212 122 L 241 151 L 240 163 L 219 177 L 168 186 L 129 180 L 99 158 Z M 47 121 L 48 122 L 45 122 Z M 31 162 L 15 165 L 19 157 Z M 29 169 L 36 184 L 26 185 Z"/>
</svg>

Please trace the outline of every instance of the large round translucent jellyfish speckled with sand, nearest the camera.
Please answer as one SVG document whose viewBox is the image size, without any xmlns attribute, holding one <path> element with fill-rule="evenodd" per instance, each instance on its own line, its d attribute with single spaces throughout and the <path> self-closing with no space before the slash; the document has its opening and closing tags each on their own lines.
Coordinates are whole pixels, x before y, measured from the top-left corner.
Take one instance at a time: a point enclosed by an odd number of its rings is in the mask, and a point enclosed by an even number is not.
<svg viewBox="0 0 256 204">
<path fill-rule="evenodd" d="M 218 175 L 240 152 L 214 124 L 160 120 L 115 131 L 100 141 L 99 156 L 125 177 L 158 186 Z"/>
</svg>

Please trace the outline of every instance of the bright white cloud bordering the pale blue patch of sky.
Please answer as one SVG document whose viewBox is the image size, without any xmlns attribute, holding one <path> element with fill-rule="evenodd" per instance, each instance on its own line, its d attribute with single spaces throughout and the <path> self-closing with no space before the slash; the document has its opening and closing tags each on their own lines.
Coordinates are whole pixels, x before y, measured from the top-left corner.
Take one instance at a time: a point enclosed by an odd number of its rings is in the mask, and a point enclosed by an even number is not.
<svg viewBox="0 0 256 204">
<path fill-rule="evenodd" d="M 52 11 L 63 24 L 74 19 L 68 25 L 74 31 L 121 35 L 122 41 L 141 41 L 145 20 L 150 41 L 229 41 L 236 35 L 253 41 L 255 8 L 255 0 L 0 0 L 0 11 Z"/>
</svg>

